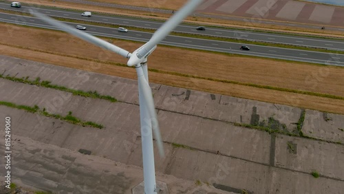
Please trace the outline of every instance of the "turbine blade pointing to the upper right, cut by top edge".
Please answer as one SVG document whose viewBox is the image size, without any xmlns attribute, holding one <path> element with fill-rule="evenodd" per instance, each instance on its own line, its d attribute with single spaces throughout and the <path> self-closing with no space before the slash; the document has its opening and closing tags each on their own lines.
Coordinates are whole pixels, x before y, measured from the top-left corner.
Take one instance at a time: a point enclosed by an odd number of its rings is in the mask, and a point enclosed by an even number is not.
<svg viewBox="0 0 344 194">
<path fill-rule="evenodd" d="M 158 45 L 170 32 L 175 29 L 189 14 L 202 3 L 203 0 L 189 0 L 186 5 L 176 12 L 169 21 L 166 21 L 151 37 L 148 43 L 138 50 L 140 56 L 146 56 L 155 45 Z"/>
</svg>

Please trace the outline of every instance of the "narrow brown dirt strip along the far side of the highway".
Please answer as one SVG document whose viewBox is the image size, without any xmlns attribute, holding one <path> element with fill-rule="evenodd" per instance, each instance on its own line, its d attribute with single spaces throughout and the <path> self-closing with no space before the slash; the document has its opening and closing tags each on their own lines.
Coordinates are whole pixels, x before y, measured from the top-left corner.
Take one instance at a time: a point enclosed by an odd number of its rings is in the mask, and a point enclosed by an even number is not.
<svg viewBox="0 0 344 194">
<path fill-rule="evenodd" d="M 100 0 L 92 0 L 92 1 L 100 1 Z M 171 14 L 160 14 L 156 12 L 143 12 L 141 11 L 140 14 L 137 13 L 136 10 L 124 10 L 118 8 L 107 8 L 102 6 L 89 6 L 80 3 L 68 3 L 64 1 L 55 1 L 54 3 L 52 0 L 22 0 L 22 3 L 32 3 L 36 6 L 55 6 L 58 8 L 69 8 L 69 9 L 76 9 L 76 10 L 88 10 L 92 12 L 104 12 L 109 14 L 122 14 L 127 16 L 134 16 L 134 17 L 144 17 L 144 18 L 153 18 L 153 19 L 166 19 L 171 17 Z M 119 0 L 105 0 L 102 2 L 107 3 L 118 3 L 122 5 L 131 5 L 131 6 L 142 6 L 147 8 L 164 8 L 169 10 L 178 10 L 182 5 L 184 5 L 185 0 L 176 0 L 176 1 L 130 1 L 127 3 L 126 1 L 119 1 Z M 149 3 L 147 3 L 149 2 Z M 212 13 L 207 13 L 212 14 Z M 310 34 L 310 35 L 319 35 L 321 36 L 336 36 L 339 38 L 344 38 L 343 31 L 332 31 L 320 30 L 322 25 L 319 25 L 319 29 L 308 29 L 308 28 L 296 28 L 290 26 L 281 26 L 281 25 L 270 25 L 270 24 L 262 24 L 262 23 L 246 23 L 241 21 L 229 21 L 224 19 L 206 19 L 206 18 L 197 18 L 197 17 L 188 17 L 185 21 L 191 23 L 197 23 L 200 25 L 213 25 L 216 23 L 217 25 L 223 25 L 225 27 L 232 27 L 232 28 L 246 28 L 252 30 L 272 30 L 275 32 L 287 32 L 287 33 L 299 33 L 299 34 Z M 266 20 L 268 21 L 268 20 Z M 325 34 L 326 33 L 326 34 Z"/>
</svg>

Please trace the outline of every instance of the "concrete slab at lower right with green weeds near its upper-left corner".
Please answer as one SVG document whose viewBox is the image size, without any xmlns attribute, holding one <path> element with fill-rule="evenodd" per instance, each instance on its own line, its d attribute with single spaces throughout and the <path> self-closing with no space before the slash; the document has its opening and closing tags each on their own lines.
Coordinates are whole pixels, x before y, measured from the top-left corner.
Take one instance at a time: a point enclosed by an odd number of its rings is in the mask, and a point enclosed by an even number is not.
<svg viewBox="0 0 344 194">
<path fill-rule="evenodd" d="M 289 136 L 276 137 L 275 164 L 281 168 L 344 181 L 344 146 Z"/>
</svg>

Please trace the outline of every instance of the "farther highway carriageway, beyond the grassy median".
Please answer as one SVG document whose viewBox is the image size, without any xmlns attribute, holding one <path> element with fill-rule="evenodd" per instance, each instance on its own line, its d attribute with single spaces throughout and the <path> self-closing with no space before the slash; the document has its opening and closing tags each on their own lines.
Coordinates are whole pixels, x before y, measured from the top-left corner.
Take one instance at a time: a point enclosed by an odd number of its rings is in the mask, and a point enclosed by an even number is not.
<svg viewBox="0 0 344 194">
<path fill-rule="evenodd" d="M 28 13 L 28 7 L 11 8 L 8 3 L 0 3 L 0 9 L 16 10 Z M 72 10 L 56 10 L 52 8 L 32 8 L 38 10 L 43 14 L 52 17 L 65 17 L 69 19 L 78 19 L 84 21 L 94 21 L 101 23 L 110 23 L 121 25 L 124 27 L 148 28 L 156 30 L 162 25 L 162 21 L 152 21 L 147 19 L 117 17 L 102 14 L 93 14 L 92 17 L 82 17 L 81 12 Z M 202 34 L 206 36 L 217 36 L 230 39 L 248 40 L 248 41 L 261 41 L 267 43 L 281 43 L 287 45 L 299 45 L 302 47 L 316 47 L 324 48 L 327 50 L 344 51 L 343 39 L 323 39 L 308 36 L 296 36 L 288 34 L 272 34 L 268 32 L 250 32 L 246 30 L 230 30 L 224 28 L 206 27 L 205 31 L 195 30 L 197 26 L 182 24 L 174 30 L 174 32 L 188 33 L 188 34 Z M 130 28 L 129 28 L 130 30 Z"/>
</svg>

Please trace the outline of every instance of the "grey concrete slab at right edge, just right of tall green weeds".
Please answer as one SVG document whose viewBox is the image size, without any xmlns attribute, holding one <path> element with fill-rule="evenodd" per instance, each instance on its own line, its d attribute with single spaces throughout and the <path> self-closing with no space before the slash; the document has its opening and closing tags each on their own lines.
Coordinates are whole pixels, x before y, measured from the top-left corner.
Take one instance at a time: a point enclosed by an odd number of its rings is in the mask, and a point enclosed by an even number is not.
<svg viewBox="0 0 344 194">
<path fill-rule="evenodd" d="M 305 136 L 344 143 L 344 116 L 306 110 L 302 131 Z"/>
</svg>

